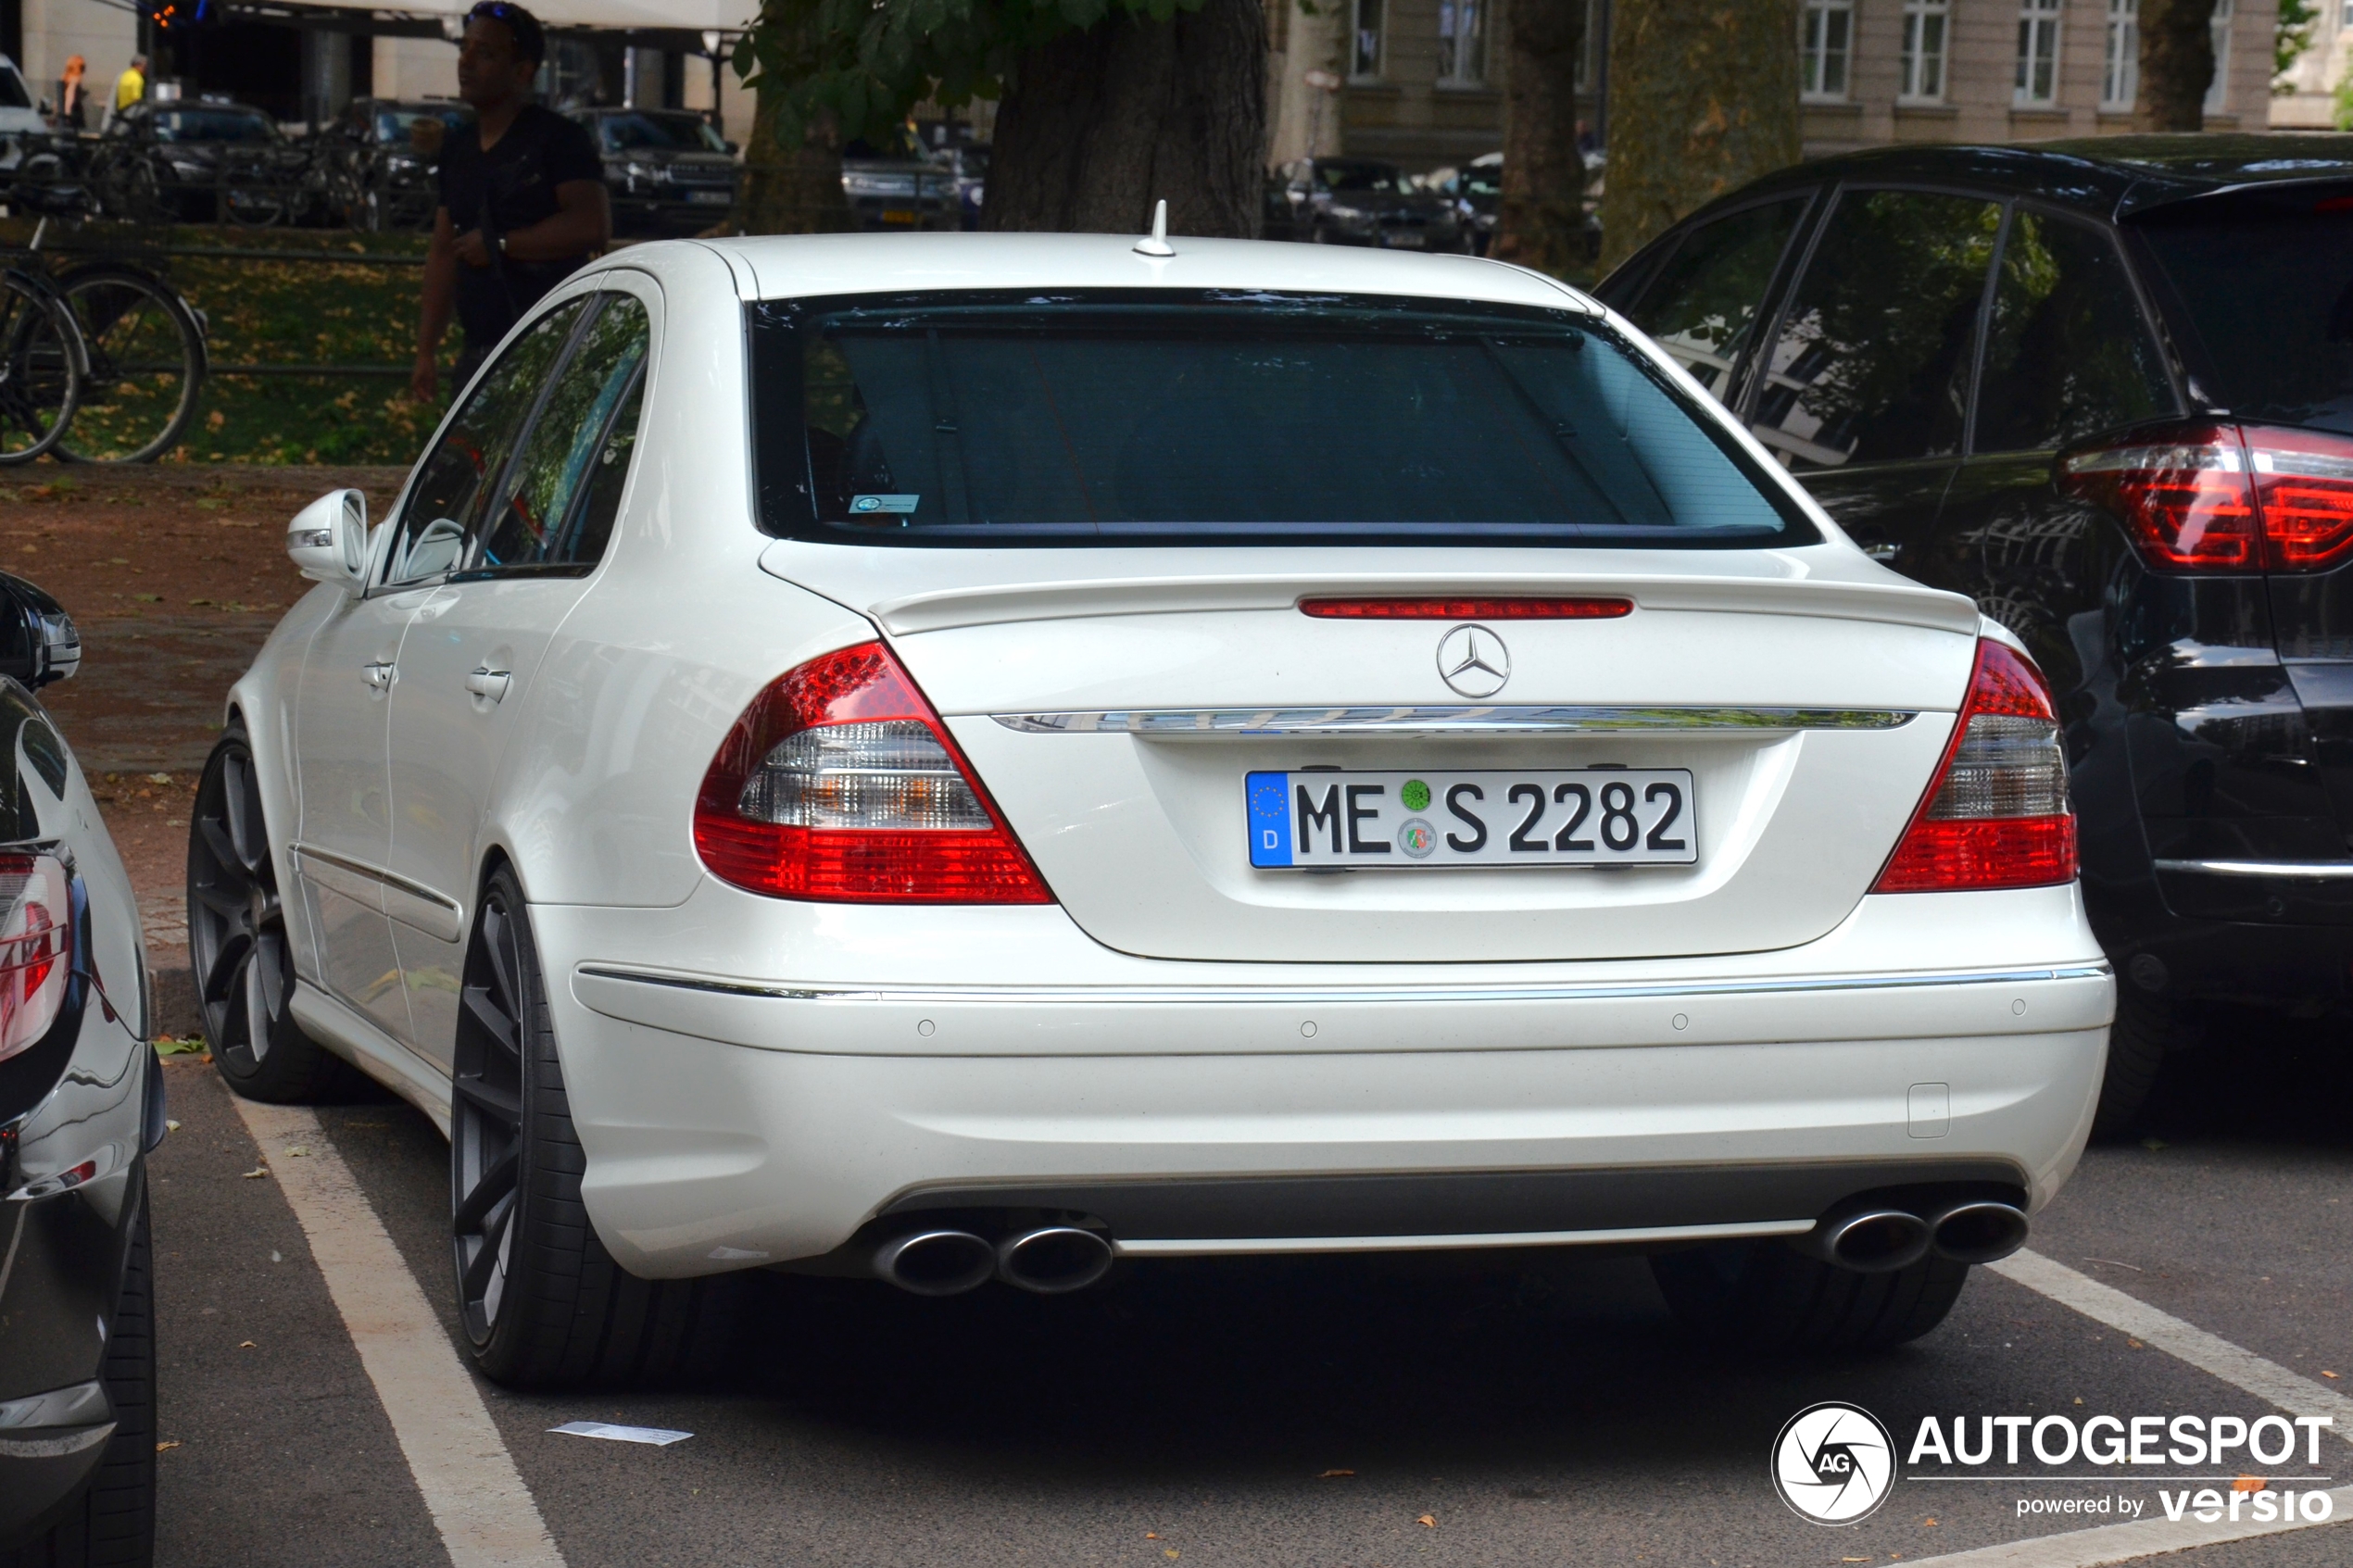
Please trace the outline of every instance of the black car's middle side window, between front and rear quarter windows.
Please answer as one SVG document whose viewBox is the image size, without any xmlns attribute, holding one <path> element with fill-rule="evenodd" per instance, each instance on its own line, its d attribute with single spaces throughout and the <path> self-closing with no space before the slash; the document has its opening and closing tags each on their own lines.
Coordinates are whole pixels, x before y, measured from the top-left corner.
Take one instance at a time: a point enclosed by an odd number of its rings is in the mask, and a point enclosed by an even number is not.
<svg viewBox="0 0 2353 1568">
<path fill-rule="evenodd" d="M 1960 451 L 2000 202 L 1847 190 L 1781 313 L 1753 428 L 1791 468 Z"/>
</svg>

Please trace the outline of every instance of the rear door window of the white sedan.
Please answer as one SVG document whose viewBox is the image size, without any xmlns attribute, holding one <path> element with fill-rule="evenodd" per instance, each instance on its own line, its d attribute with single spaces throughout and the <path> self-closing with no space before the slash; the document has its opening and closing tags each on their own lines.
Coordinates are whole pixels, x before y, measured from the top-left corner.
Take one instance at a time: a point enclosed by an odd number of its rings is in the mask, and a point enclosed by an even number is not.
<svg viewBox="0 0 2353 1568">
<path fill-rule="evenodd" d="M 645 306 L 607 294 L 548 386 L 468 571 L 586 567 L 602 557 L 638 437 L 635 390 L 649 343 Z"/>
</svg>

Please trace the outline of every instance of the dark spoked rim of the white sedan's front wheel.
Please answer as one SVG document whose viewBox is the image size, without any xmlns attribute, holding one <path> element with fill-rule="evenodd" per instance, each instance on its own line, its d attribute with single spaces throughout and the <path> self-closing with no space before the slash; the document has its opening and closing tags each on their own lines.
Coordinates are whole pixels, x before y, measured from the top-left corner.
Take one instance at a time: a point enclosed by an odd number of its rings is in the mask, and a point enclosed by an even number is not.
<svg viewBox="0 0 2353 1568">
<path fill-rule="evenodd" d="M 294 964 L 254 755 L 226 745 L 216 764 L 198 790 L 188 844 L 188 957 L 212 1048 L 249 1074 L 285 1023 Z"/>
</svg>

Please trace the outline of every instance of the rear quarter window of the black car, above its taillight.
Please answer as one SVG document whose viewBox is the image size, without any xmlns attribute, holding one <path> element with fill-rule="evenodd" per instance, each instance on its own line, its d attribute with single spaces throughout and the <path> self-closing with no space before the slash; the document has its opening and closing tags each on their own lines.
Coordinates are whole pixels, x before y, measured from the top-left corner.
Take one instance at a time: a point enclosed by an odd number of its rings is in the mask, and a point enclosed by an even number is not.
<svg viewBox="0 0 2353 1568">
<path fill-rule="evenodd" d="M 2174 409 L 2165 360 L 2097 228 L 2019 209 L 1977 390 L 1979 451 L 2042 451 Z"/>
</svg>

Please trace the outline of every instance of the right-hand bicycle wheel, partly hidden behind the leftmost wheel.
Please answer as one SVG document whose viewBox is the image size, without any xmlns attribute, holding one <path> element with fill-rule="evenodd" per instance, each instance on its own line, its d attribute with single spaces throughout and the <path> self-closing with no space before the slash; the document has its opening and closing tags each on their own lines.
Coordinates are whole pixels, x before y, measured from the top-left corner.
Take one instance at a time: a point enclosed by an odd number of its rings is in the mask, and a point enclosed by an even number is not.
<svg viewBox="0 0 2353 1568">
<path fill-rule="evenodd" d="M 205 386 L 205 331 L 160 277 L 122 261 L 73 268 L 59 292 L 82 331 L 87 374 L 73 463 L 153 463 L 179 444 Z"/>
</svg>

